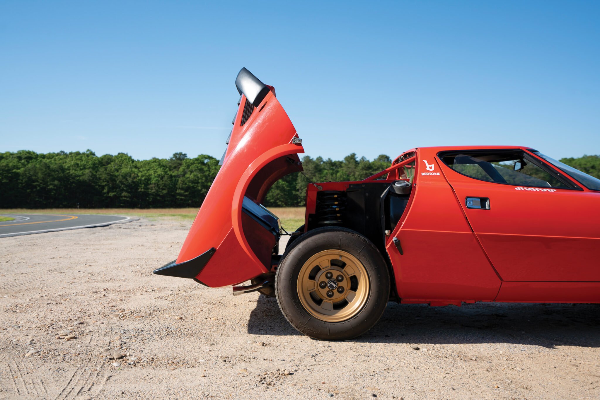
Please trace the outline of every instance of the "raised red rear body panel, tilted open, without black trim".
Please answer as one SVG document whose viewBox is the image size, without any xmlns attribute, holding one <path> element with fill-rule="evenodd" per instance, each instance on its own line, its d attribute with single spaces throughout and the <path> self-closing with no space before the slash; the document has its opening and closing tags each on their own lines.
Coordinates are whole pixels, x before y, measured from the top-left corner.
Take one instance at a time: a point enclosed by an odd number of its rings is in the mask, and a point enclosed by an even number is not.
<svg viewBox="0 0 600 400">
<path fill-rule="evenodd" d="M 212 247 L 217 249 L 196 276 L 210 287 L 244 282 L 269 272 L 270 260 L 265 263 L 260 253 L 266 247 L 270 255 L 275 243 L 265 243 L 266 236 L 259 236 L 262 230 L 251 225 L 253 221 L 242 219 L 242 201 L 246 196 L 262 203 L 275 181 L 302 170 L 298 153 L 304 153 L 304 149 L 292 143 L 298 135 L 274 92 L 266 95 L 241 125 L 245 100 L 242 95 L 223 166 L 177 258 L 182 263 Z"/>
</svg>

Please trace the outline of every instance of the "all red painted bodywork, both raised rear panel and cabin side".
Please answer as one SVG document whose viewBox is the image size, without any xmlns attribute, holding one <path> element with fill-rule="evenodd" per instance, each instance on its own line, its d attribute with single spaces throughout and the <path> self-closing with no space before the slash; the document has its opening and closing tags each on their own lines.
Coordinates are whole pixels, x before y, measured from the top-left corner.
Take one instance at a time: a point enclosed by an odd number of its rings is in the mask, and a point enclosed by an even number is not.
<svg viewBox="0 0 600 400">
<path fill-rule="evenodd" d="M 217 249 L 196 277 L 210 287 L 272 271 L 275 239 L 242 216 L 242 199 L 261 203 L 275 181 L 301 170 L 297 154 L 304 149 L 293 143 L 298 135 L 274 91 L 240 126 L 244 103 L 242 96 L 223 167 L 177 259 L 182 263 Z M 391 183 L 401 179 L 399 169 L 415 161 L 409 203 L 385 242 L 401 302 L 600 302 L 600 192 L 574 180 L 581 190 L 515 190 L 461 175 L 439 157 L 443 151 L 474 149 L 521 149 L 537 158 L 517 146 L 412 149 L 364 181 L 309 184 L 306 225 L 320 190 L 346 191 L 380 177 L 385 181 L 377 182 Z M 488 197 L 491 209 L 467 209 L 466 197 Z"/>
</svg>

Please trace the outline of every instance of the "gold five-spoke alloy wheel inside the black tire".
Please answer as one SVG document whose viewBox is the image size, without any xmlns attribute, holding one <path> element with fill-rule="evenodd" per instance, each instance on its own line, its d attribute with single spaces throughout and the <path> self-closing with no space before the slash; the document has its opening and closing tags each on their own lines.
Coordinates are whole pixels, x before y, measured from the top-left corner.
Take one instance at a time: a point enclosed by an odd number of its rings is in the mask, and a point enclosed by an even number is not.
<svg viewBox="0 0 600 400">
<path fill-rule="evenodd" d="M 341 322 L 367 303 L 367 269 L 349 252 L 325 250 L 310 257 L 298 275 L 298 296 L 313 317 Z"/>
</svg>

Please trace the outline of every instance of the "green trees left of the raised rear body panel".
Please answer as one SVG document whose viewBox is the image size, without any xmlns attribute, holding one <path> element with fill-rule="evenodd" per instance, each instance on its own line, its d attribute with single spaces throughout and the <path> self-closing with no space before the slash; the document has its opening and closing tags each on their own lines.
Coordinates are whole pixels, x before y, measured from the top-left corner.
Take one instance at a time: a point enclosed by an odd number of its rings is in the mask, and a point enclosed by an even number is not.
<svg viewBox="0 0 600 400">
<path fill-rule="evenodd" d="M 209 155 L 134 160 L 86 152 L 0 153 L 0 208 L 196 207 L 219 170 Z"/>
</svg>

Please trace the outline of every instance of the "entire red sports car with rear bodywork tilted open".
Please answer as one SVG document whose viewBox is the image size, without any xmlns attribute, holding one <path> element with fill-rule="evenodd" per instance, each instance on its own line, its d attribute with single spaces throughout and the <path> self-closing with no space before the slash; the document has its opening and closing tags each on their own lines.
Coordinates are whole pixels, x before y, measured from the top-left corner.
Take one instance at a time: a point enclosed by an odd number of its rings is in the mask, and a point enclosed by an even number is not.
<svg viewBox="0 0 600 400">
<path fill-rule="evenodd" d="M 271 185 L 302 140 L 245 68 L 221 170 L 159 275 L 276 296 L 300 332 L 361 335 L 386 303 L 600 302 L 600 180 L 520 146 L 416 148 L 364 181 L 309 184 L 280 254 Z"/>
</svg>

